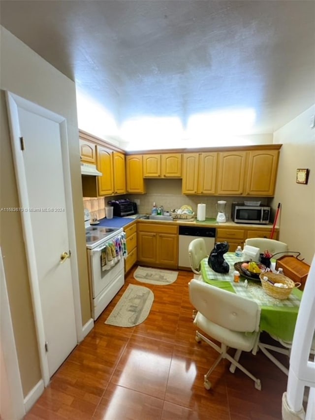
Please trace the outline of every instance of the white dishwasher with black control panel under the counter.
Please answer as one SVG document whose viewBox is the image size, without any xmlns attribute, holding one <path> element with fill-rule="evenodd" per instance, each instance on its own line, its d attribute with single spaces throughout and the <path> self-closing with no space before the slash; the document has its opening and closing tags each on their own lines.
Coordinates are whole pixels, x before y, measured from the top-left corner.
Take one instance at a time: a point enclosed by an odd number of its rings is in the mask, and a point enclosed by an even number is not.
<svg viewBox="0 0 315 420">
<path fill-rule="evenodd" d="M 200 226 L 179 226 L 178 267 L 190 268 L 188 246 L 196 238 L 203 238 L 208 255 L 215 246 L 216 228 Z"/>
</svg>

